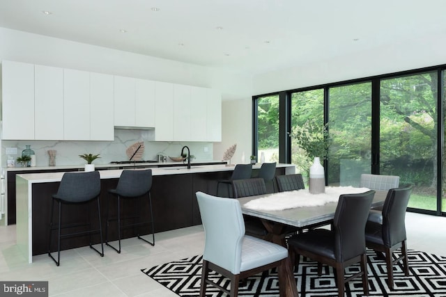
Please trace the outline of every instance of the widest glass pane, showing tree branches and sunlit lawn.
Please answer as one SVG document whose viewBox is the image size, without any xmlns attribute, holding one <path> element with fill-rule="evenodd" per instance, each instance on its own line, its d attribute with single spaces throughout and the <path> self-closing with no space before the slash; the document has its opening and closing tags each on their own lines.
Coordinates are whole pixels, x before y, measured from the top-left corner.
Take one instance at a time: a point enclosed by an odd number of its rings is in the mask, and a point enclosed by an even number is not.
<svg viewBox="0 0 446 297">
<path fill-rule="evenodd" d="M 437 72 L 380 81 L 380 174 L 412 184 L 408 207 L 437 211 Z"/>
</svg>

